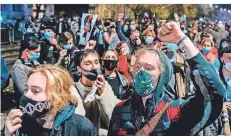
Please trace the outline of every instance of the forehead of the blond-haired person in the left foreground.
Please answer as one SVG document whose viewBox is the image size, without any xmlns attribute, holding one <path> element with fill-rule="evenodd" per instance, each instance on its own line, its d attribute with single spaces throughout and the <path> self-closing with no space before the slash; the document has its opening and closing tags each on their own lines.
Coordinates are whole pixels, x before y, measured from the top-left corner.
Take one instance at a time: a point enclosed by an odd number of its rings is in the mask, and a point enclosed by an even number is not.
<svg viewBox="0 0 231 136">
<path fill-rule="evenodd" d="M 42 73 L 36 72 L 30 75 L 27 83 L 29 86 L 38 86 L 46 90 L 47 78 Z"/>
</svg>

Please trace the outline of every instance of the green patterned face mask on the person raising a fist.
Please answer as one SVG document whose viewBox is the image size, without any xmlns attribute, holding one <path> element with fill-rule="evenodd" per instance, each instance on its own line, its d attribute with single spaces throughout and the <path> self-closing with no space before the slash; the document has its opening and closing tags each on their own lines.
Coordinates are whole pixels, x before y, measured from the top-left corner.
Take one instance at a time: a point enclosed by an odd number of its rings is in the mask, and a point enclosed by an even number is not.
<svg viewBox="0 0 231 136">
<path fill-rule="evenodd" d="M 135 91 L 142 97 L 152 94 L 156 88 L 156 86 L 153 85 L 153 80 L 153 76 L 141 68 L 136 72 L 133 79 Z"/>
</svg>

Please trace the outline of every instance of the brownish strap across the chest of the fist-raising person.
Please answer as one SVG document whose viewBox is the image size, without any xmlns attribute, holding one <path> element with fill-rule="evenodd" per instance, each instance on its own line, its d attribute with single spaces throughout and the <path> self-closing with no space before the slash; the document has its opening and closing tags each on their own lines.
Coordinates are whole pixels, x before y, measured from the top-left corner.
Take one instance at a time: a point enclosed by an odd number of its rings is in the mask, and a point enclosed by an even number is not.
<svg viewBox="0 0 231 136">
<path fill-rule="evenodd" d="M 139 132 L 136 133 L 136 136 L 147 136 L 149 133 L 151 133 L 171 103 L 172 102 L 168 102 L 160 112 L 152 117 L 150 121 Z"/>
</svg>

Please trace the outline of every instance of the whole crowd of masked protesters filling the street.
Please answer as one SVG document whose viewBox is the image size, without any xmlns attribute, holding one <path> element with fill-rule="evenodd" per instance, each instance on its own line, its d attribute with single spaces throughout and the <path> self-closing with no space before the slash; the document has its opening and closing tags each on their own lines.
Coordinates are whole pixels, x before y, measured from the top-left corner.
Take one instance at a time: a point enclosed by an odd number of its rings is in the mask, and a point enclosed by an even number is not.
<svg viewBox="0 0 231 136">
<path fill-rule="evenodd" d="M 9 22 L 8 22 L 9 23 Z M 10 25 L 8 25 L 10 26 Z M 18 20 L 19 57 L 6 136 L 229 136 L 231 22 L 98 18 Z"/>
</svg>

